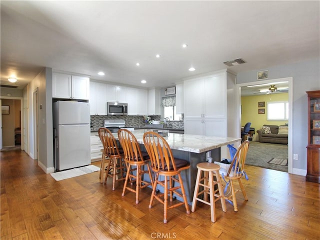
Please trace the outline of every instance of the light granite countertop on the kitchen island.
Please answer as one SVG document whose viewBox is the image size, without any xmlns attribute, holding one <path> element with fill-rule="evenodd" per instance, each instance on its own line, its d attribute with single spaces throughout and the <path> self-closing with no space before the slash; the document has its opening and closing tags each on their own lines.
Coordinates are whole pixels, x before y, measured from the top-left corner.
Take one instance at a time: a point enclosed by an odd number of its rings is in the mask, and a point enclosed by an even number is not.
<svg viewBox="0 0 320 240">
<path fill-rule="evenodd" d="M 140 144 L 143 144 L 144 132 L 144 129 L 134 129 L 134 131 L 132 131 Z M 113 133 L 113 135 L 117 139 L 117 134 Z M 172 132 L 169 132 L 164 138 L 168 142 L 171 149 L 195 153 L 205 152 L 241 140 L 241 138 L 236 137 L 203 136 Z"/>
</svg>

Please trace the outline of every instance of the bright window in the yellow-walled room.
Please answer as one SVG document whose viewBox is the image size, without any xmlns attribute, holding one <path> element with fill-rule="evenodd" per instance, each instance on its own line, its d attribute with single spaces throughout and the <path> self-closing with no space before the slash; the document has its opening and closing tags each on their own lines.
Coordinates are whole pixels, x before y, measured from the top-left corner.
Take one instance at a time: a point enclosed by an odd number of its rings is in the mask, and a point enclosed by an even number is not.
<svg viewBox="0 0 320 240">
<path fill-rule="evenodd" d="M 267 120 L 281 121 L 289 118 L 289 103 L 287 101 L 267 102 Z"/>
</svg>

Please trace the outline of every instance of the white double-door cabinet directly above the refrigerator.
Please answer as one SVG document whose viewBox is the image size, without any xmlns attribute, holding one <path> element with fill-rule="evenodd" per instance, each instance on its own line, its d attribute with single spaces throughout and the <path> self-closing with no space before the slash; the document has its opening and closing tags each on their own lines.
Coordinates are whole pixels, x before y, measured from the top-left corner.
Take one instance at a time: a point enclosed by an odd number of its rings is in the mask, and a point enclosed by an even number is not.
<svg viewBox="0 0 320 240">
<path fill-rule="evenodd" d="M 89 78 L 53 72 L 52 97 L 88 100 Z"/>
</svg>

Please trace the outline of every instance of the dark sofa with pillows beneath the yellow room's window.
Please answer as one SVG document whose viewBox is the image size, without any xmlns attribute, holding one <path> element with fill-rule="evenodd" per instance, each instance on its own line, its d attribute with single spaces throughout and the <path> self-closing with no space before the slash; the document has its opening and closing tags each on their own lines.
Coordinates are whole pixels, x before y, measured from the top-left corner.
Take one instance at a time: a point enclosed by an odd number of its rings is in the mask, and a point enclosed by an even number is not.
<svg viewBox="0 0 320 240">
<path fill-rule="evenodd" d="M 258 133 L 259 142 L 288 144 L 288 126 L 287 125 L 268 125 L 264 124 Z"/>
</svg>

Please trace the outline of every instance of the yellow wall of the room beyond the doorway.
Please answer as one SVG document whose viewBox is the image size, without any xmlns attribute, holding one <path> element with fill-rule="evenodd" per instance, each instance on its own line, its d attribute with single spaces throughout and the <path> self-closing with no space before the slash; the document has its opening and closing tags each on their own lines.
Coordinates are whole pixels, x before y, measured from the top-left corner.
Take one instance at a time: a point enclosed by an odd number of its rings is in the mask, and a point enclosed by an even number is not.
<svg viewBox="0 0 320 240">
<path fill-rule="evenodd" d="M 255 96 L 241 97 L 241 126 L 246 122 L 251 122 L 251 127 L 255 131 L 260 129 L 263 124 L 284 125 L 288 121 L 267 121 L 266 120 L 266 104 L 270 101 L 287 101 L 288 93 L 271 93 Z M 264 107 L 258 107 L 258 101 L 264 101 Z M 258 108 L 264 108 L 264 114 L 258 114 Z"/>
</svg>

